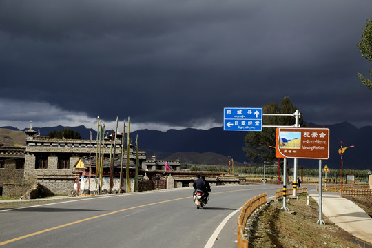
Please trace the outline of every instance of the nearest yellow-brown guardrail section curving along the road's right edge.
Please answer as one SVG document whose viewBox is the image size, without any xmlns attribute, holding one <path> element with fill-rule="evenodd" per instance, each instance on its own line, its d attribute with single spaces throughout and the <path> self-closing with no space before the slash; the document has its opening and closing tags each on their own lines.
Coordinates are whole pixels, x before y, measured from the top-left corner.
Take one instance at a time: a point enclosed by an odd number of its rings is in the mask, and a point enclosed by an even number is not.
<svg viewBox="0 0 372 248">
<path fill-rule="evenodd" d="M 267 203 L 267 194 L 260 194 L 251 198 L 244 205 L 242 205 L 242 210 L 240 210 L 238 216 L 238 248 L 248 248 L 248 240 L 244 238 L 244 229 L 247 224 L 247 220 L 251 214 L 258 209 L 258 207 L 265 205 Z"/>
</svg>

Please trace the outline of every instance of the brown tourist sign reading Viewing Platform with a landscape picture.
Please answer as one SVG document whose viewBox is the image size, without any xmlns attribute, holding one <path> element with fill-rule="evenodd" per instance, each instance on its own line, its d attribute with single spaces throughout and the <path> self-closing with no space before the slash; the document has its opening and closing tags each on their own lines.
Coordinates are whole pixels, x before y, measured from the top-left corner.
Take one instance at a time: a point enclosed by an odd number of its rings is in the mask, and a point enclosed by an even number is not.
<svg viewBox="0 0 372 248">
<path fill-rule="evenodd" d="M 329 158 L 329 129 L 293 127 L 276 129 L 277 158 Z"/>
</svg>

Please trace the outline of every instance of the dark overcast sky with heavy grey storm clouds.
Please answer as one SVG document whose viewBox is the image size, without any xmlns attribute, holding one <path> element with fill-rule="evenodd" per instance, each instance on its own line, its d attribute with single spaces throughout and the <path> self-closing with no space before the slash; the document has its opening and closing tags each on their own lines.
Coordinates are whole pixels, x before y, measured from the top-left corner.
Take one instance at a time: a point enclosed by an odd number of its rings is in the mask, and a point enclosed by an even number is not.
<svg viewBox="0 0 372 248">
<path fill-rule="evenodd" d="M 371 0 L 0 0 L 0 127 L 208 129 L 284 96 L 372 125 L 369 18 Z"/>
</svg>

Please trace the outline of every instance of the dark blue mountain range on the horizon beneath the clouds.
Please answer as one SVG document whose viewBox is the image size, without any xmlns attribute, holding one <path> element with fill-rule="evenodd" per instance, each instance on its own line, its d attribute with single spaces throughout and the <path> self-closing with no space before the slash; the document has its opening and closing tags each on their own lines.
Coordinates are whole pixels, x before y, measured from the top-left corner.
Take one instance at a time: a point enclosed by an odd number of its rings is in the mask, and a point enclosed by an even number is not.
<svg viewBox="0 0 372 248">
<path fill-rule="evenodd" d="M 308 127 L 329 128 L 329 159 L 323 161 L 332 169 L 340 169 L 341 158 L 338 154 L 340 141 L 344 147 L 355 145 L 347 149 L 343 154 L 344 169 L 372 169 L 372 161 L 369 158 L 369 139 L 372 138 L 372 126 L 355 127 L 350 123 L 343 122 L 334 125 L 317 125 L 307 123 Z M 71 128 L 81 134 L 82 138 L 89 139 L 90 129 L 84 126 L 77 127 L 34 127 L 41 135 L 48 135 L 54 130 Z M 1 127 L 0 129 L 18 130 L 14 127 Z M 25 130 L 27 130 L 26 128 Z M 24 130 L 23 130 L 24 131 Z M 228 156 L 234 159 L 234 165 L 241 166 L 243 162 L 249 163 L 249 159 L 243 151 L 244 136 L 247 132 L 224 131 L 223 127 L 215 127 L 209 130 L 187 128 L 183 130 L 136 130 L 130 133 L 131 143 L 134 143 L 138 135 L 138 147 L 147 152 L 147 158 L 156 156 L 158 159 L 180 158 L 181 163 L 204 164 L 204 165 L 228 165 Z M 96 131 L 92 130 L 92 136 L 96 138 Z M 9 137 L 9 136 L 8 136 Z M 2 136 L 0 136 L 3 141 Z M 4 142 L 3 142 L 4 143 Z M 289 165 L 293 160 L 289 159 Z M 299 167 L 316 169 L 318 160 L 300 159 Z"/>
</svg>

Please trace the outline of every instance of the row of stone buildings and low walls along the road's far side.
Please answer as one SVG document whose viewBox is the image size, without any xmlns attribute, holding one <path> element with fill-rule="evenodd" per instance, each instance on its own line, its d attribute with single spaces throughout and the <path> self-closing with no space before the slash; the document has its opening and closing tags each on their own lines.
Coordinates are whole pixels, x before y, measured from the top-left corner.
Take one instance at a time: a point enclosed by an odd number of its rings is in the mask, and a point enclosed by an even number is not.
<svg viewBox="0 0 372 248">
<path fill-rule="evenodd" d="M 98 190 L 96 167 L 101 163 L 101 191 L 112 189 L 113 192 L 121 192 L 126 189 L 125 180 L 121 184 L 120 178 L 126 178 L 127 164 L 130 190 L 134 191 L 137 152 L 134 145 L 130 145 L 129 152 L 124 149 L 121 159 L 120 134 L 116 147 L 108 139 L 105 139 L 100 147 L 96 141 L 40 136 L 32 127 L 25 133 L 25 147 L 0 147 L 0 195 L 22 196 L 34 185 L 41 185 L 53 194 L 70 194 L 74 189 L 92 194 Z M 140 181 L 140 191 L 192 187 L 196 173 L 205 174 L 211 185 L 245 183 L 235 176 L 225 176 L 223 172 L 181 172 L 179 159 L 158 160 L 155 156 L 147 159 L 146 152 L 138 151 L 138 178 L 147 179 Z"/>
</svg>

